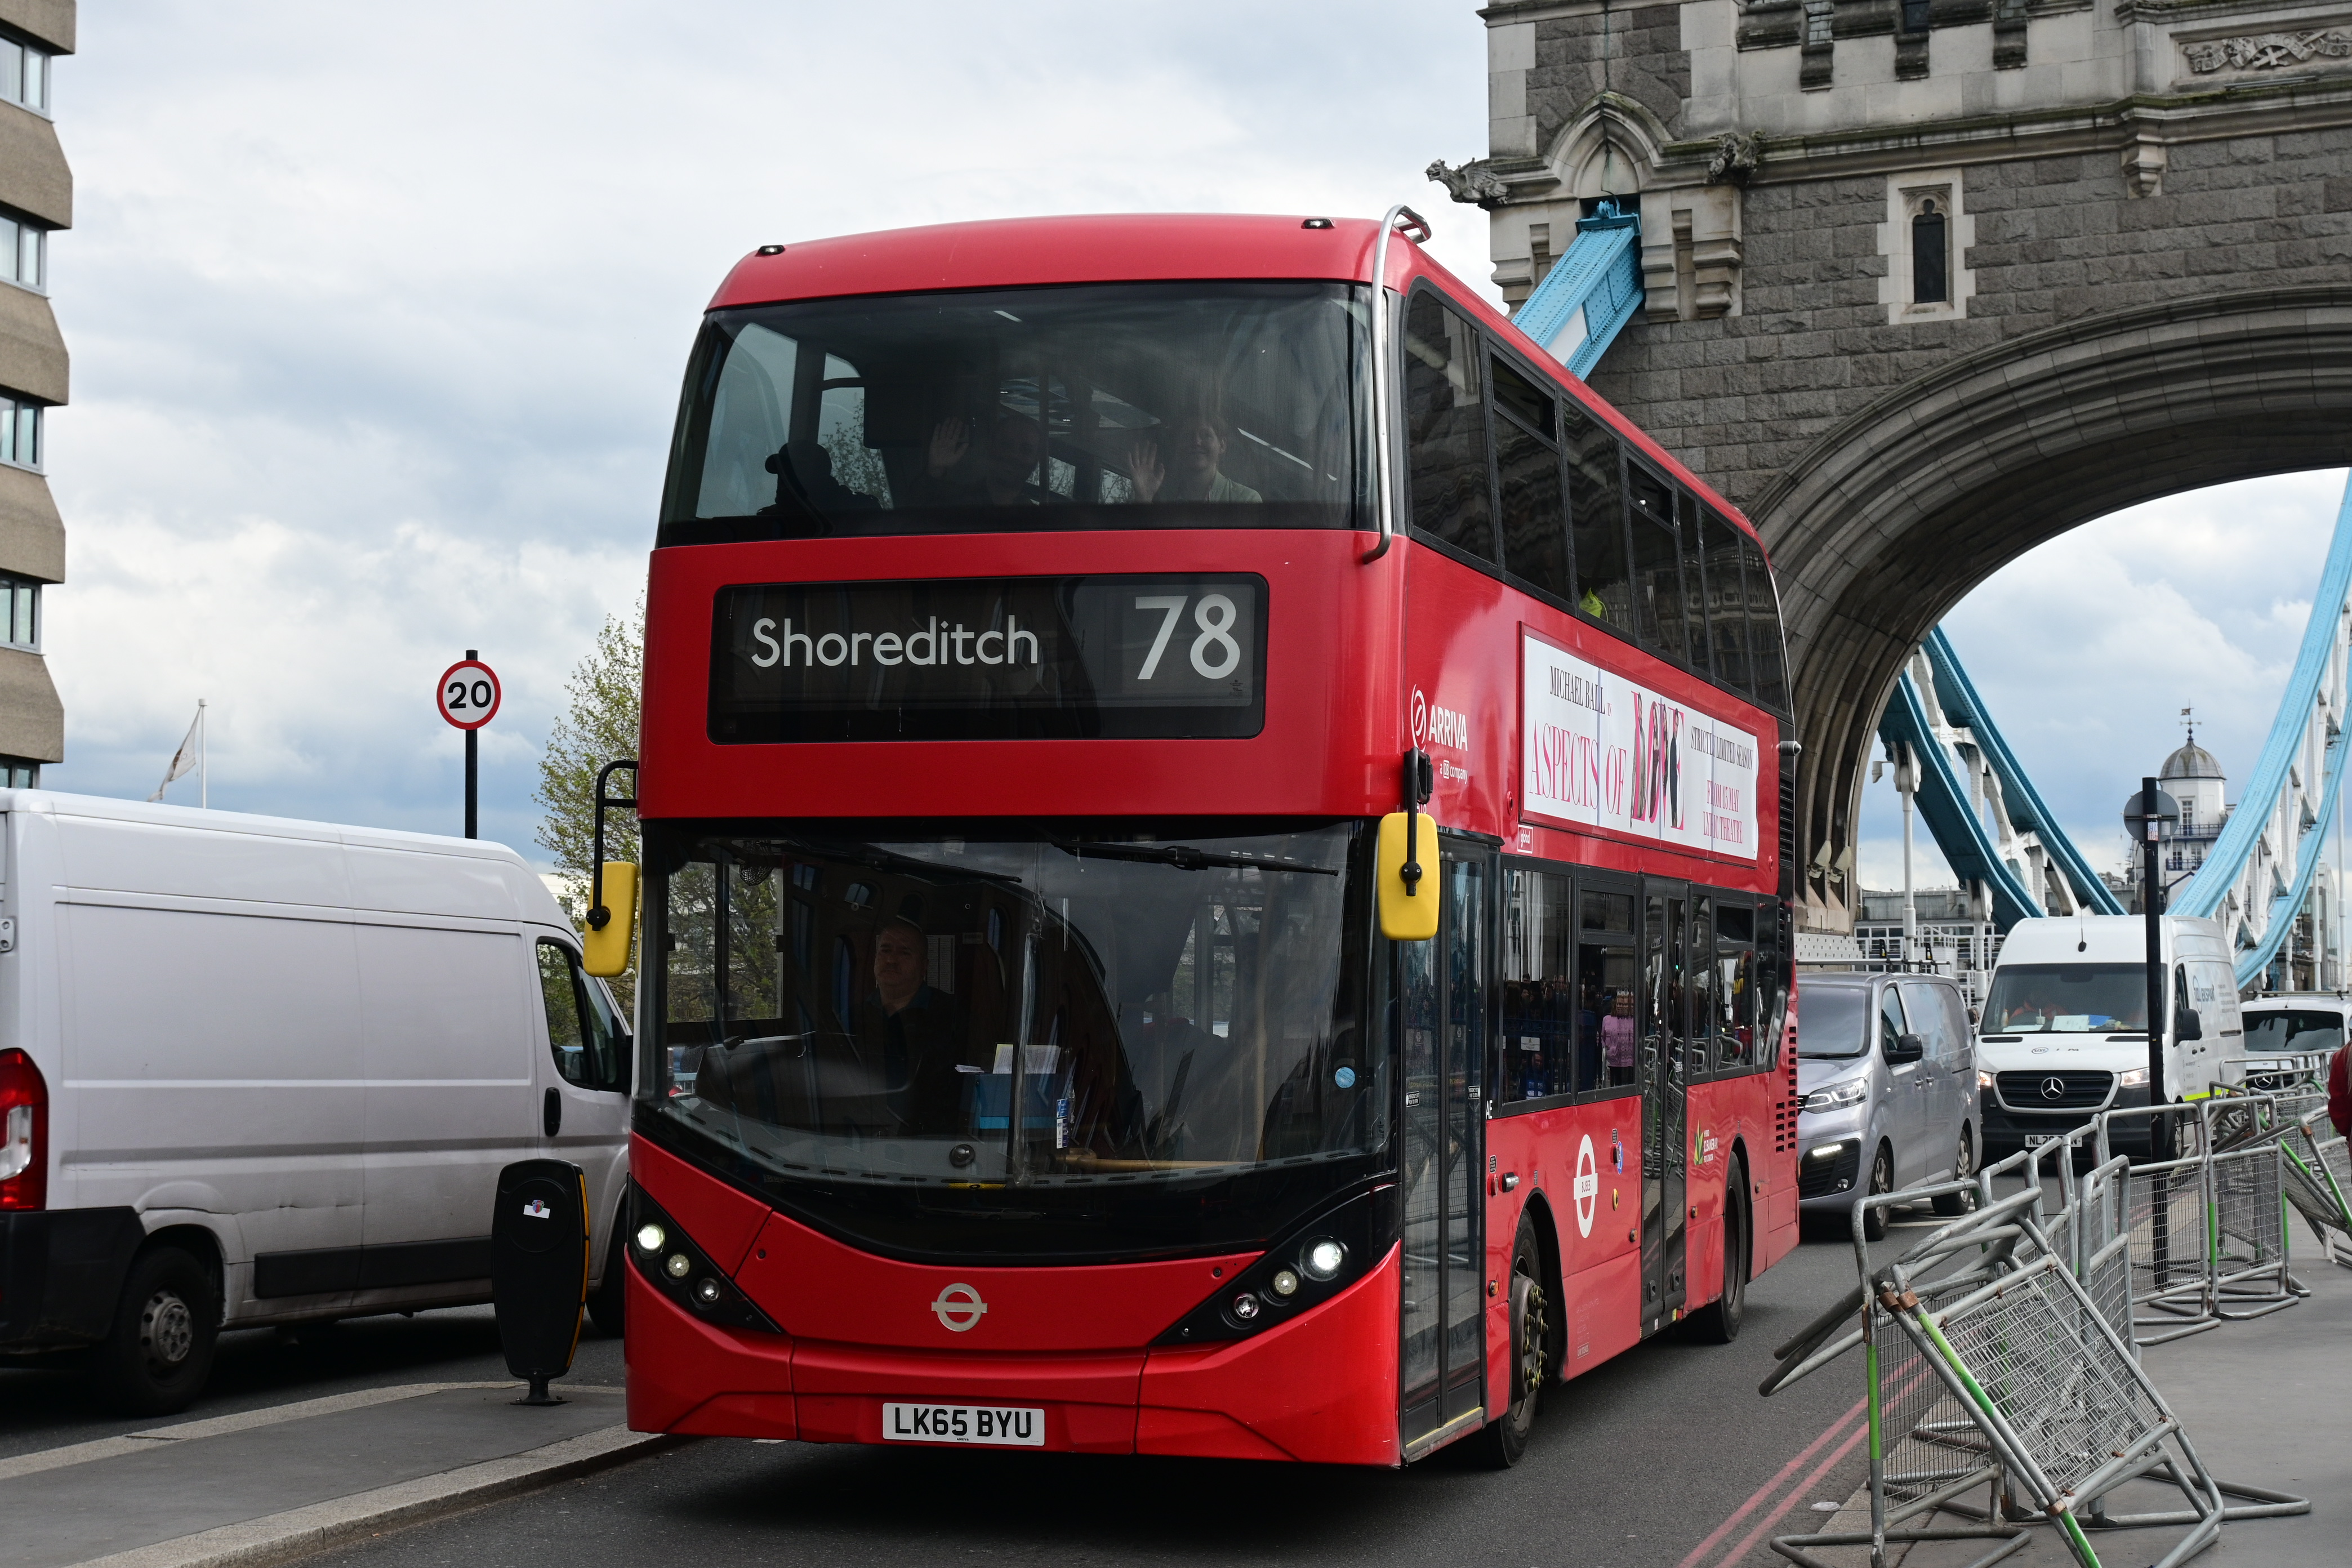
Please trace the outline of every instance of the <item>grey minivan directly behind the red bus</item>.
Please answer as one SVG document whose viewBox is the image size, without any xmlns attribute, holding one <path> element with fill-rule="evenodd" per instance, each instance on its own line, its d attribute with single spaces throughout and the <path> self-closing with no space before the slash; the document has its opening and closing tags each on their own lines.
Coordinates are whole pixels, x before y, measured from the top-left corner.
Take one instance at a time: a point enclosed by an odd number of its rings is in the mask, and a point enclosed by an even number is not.
<svg viewBox="0 0 2352 1568">
<path fill-rule="evenodd" d="M 1863 1194 L 1976 1173 L 1976 1032 L 1943 976 L 1797 976 L 1797 1199 L 1851 1213 Z M 1936 1213 L 1966 1213 L 1962 1194 Z M 1886 1211 L 1867 1237 L 1886 1234 Z"/>
</svg>

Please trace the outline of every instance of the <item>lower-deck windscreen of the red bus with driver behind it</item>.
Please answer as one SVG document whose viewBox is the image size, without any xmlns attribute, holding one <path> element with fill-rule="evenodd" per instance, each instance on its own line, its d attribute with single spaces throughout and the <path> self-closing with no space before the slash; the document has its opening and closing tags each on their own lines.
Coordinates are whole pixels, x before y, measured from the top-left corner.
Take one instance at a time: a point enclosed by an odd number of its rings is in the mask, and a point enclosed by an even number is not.
<svg viewBox="0 0 2352 1568">
<path fill-rule="evenodd" d="M 1385 1150 L 1355 823 L 647 842 L 649 1110 L 833 1229 L 1230 1246 Z"/>
</svg>

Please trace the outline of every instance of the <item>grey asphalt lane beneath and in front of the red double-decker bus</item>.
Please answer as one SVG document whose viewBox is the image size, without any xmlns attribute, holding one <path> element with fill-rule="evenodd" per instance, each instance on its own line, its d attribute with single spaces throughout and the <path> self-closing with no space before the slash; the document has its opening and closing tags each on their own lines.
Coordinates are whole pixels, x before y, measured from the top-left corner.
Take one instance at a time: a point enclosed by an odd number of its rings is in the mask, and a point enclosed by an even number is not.
<svg viewBox="0 0 2352 1568">
<path fill-rule="evenodd" d="M 1860 1486 L 1863 1448 L 1846 1441 L 1860 1429 L 1860 1366 L 1773 1399 L 1755 1387 L 1771 1347 L 1851 1281 L 1851 1246 L 1806 1241 L 1755 1281 L 1736 1345 L 1663 1338 L 1555 1387 L 1508 1474 L 1461 1450 L 1364 1472 L 710 1439 L 315 1561 L 536 1568 L 550 1544 L 576 1542 L 564 1554 L 593 1554 L 600 1568 L 1778 1563 L 1764 1535 L 1813 1528 L 1813 1500 L 1842 1502 Z M 1740 1514 L 1759 1488 L 1764 1500 Z M 1771 1526 L 1783 1502 L 1792 1512 Z"/>
</svg>

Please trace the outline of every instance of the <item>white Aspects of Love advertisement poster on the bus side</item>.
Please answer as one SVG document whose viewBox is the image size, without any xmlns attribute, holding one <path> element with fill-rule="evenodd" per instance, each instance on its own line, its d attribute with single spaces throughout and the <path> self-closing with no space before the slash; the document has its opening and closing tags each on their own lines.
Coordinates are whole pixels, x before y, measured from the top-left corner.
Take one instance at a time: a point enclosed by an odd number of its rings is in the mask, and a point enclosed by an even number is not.
<svg viewBox="0 0 2352 1568">
<path fill-rule="evenodd" d="M 1757 738 L 1522 628 L 1519 811 L 1757 858 Z"/>
</svg>

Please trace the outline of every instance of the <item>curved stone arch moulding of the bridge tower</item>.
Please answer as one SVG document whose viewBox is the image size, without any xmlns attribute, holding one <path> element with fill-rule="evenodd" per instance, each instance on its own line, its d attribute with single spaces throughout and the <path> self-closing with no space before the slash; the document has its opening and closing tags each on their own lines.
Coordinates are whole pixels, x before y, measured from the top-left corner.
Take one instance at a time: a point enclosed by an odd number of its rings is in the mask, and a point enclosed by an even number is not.
<svg viewBox="0 0 2352 1568">
<path fill-rule="evenodd" d="M 1844 929 L 1863 764 L 1903 658 L 1994 569 L 2201 484 L 2352 463 L 2352 284 L 2079 317 L 1903 383 L 1748 508 L 1795 668 L 1806 924 Z"/>
</svg>

